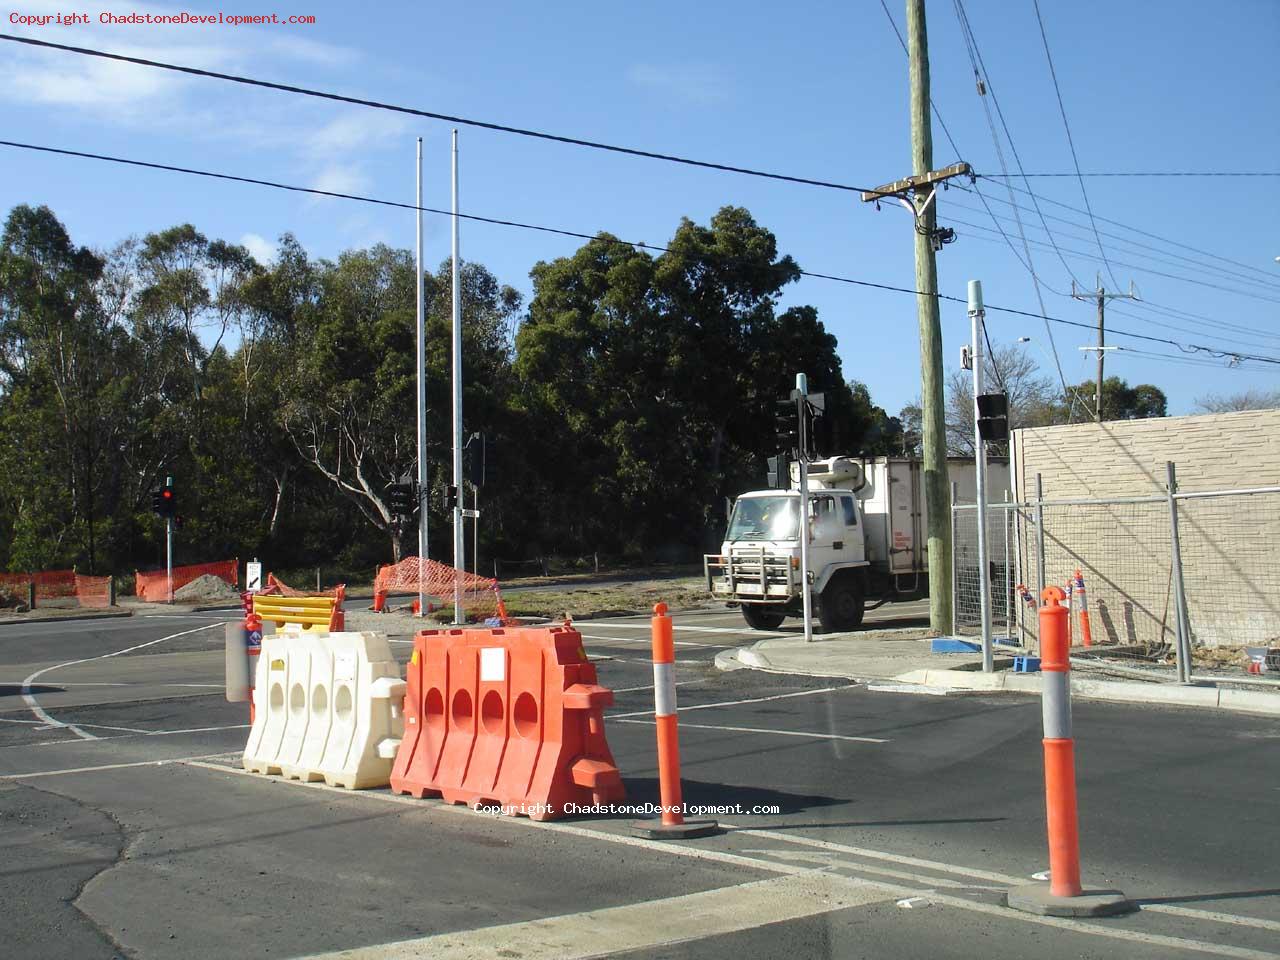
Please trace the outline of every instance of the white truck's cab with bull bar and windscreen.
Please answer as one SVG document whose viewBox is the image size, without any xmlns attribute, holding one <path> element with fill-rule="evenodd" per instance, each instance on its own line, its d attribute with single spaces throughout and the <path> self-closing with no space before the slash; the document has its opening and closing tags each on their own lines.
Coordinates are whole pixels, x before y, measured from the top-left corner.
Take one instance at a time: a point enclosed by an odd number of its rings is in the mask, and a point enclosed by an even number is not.
<svg viewBox="0 0 1280 960">
<path fill-rule="evenodd" d="M 822 628 L 855 630 L 865 609 L 869 567 L 856 495 L 861 470 L 845 457 L 809 465 L 803 531 L 799 479 L 799 465 L 792 465 L 792 489 L 739 497 L 721 552 L 703 561 L 708 590 L 739 603 L 744 620 L 756 630 L 776 630 L 786 617 L 801 616 L 803 532 L 809 539 L 809 576 Z"/>
</svg>

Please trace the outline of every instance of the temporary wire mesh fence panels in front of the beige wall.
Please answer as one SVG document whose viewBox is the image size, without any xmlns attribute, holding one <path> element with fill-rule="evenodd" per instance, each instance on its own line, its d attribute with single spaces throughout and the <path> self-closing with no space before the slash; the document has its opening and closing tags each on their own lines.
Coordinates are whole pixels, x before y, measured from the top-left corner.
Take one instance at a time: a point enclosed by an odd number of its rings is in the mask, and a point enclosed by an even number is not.
<svg viewBox="0 0 1280 960">
<path fill-rule="evenodd" d="M 1068 595 L 1083 667 L 1280 687 L 1280 486 L 1172 489 L 988 504 L 996 643 L 1038 649 L 1036 608 L 1052 585 Z M 951 516 L 955 632 L 979 636 L 977 506 Z"/>
</svg>

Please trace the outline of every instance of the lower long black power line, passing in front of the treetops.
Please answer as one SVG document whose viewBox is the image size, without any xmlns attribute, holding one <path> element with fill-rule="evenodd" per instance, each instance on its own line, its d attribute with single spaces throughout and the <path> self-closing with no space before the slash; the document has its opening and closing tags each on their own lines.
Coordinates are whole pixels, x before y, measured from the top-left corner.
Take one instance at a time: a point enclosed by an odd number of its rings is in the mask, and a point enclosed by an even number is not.
<svg viewBox="0 0 1280 960">
<path fill-rule="evenodd" d="M 206 177 L 206 178 L 219 179 L 219 180 L 230 180 L 230 182 L 234 182 L 234 183 L 248 183 L 248 184 L 253 184 L 253 186 L 259 186 L 259 187 L 269 187 L 271 189 L 289 191 L 289 192 L 293 192 L 293 193 L 310 193 L 310 195 L 314 195 L 314 196 L 333 197 L 333 198 L 337 198 L 337 200 L 353 200 L 353 201 L 362 202 L 362 204 L 375 204 L 378 206 L 396 207 L 396 209 L 399 209 L 399 210 L 421 210 L 422 212 L 428 212 L 428 214 L 438 214 L 438 215 L 442 215 L 442 216 L 452 216 L 452 212 L 448 211 L 448 210 L 438 210 L 438 209 L 434 209 L 434 207 L 417 206 L 416 204 L 404 204 L 404 202 L 399 202 L 399 201 L 394 201 L 394 200 L 380 200 L 380 198 L 376 198 L 376 197 L 361 196 L 358 193 L 342 193 L 342 192 L 338 192 L 338 191 L 319 189 L 319 188 L 315 188 L 315 187 L 300 187 L 297 184 L 280 183 L 278 180 L 259 179 L 259 178 L 255 178 L 255 177 L 239 177 L 237 174 L 218 173 L 218 172 L 212 172 L 212 170 L 200 170 L 200 169 L 195 169 L 195 168 L 189 168 L 189 166 L 177 166 L 177 165 L 173 165 L 173 164 L 160 164 L 160 163 L 154 163 L 154 161 L 148 161 L 148 160 L 132 160 L 132 159 L 128 159 L 128 157 L 110 156 L 108 154 L 91 154 L 91 152 L 83 151 L 83 150 L 67 150 L 67 148 L 63 148 L 63 147 L 49 147 L 49 146 L 41 146 L 41 145 L 36 145 L 36 143 L 22 143 L 22 142 L 10 141 L 10 140 L 0 140 L 0 146 L 14 147 L 14 148 L 18 148 L 18 150 L 32 150 L 32 151 L 41 152 L 41 154 L 54 154 L 54 155 L 59 155 L 59 156 L 72 156 L 72 157 L 78 157 L 78 159 L 83 159 L 83 160 L 101 160 L 101 161 L 105 161 L 105 163 L 123 164 L 123 165 L 127 165 L 127 166 L 141 166 L 141 168 L 146 168 L 146 169 L 151 169 L 151 170 L 164 170 L 164 172 L 168 172 L 168 173 L 180 173 L 180 174 L 187 174 L 187 175 L 191 175 L 191 177 Z M 593 233 L 585 233 L 582 230 L 568 230 L 568 229 L 562 229 L 562 228 L 558 228 L 558 227 L 545 227 L 545 225 L 541 225 L 541 224 L 521 223 L 520 220 L 507 220 L 507 219 L 495 218 L 495 216 L 480 216 L 480 215 L 476 215 L 476 214 L 458 214 L 458 218 L 461 218 L 463 220 L 477 221 L 477 223 L 497 224 L 499 227 L 513 227 L 513 228 L 518 228 L 518 229 L 524 229 L 524 230 L 538 230 L 540 233 L 553 233 L 553 234 L 557 234 L 557 236 L 561 236 L 561 237 L 573 237 L 573 238 L 577 238 L 577 239 L 588 239 L 588 241 L 600 239 L 600 234 L 599 233 L 594 233 L 593 234 Z M 652 250 L 652 251 L 657 251 L 657 252 L 668 252 L 667 247 L 663 247 L 663 246 L 659 246 L 659 244 L 655 244 L 655 243 L 644 243 L 644 242 L 637 242 L 637 241 L 625 241 L 625 239 L 620 239 L 620 238 L 613 238 L 613 239 L 616 242 L 618 242 L 618 243 L 623 243 L 626 246 L 635 247 L 637 250 Z M 888 284 L 888 283 L 876 283 L 874 280 L 861 280 L 861 279 L 858 279 L 858 278 L 854 278 L 854 276 L 840 276 L 840 275 L 836 275 L 836 274 L 823 274 L 823 273 L 817 273 L 817 271 L 813 271 L 813 270 L 800 270 L 800 275 L 801 276 L 810 276 L 810 278 L 819 279 L 819 280 L 832 280 L 832 282 L 836 282 L 836 283 L 846 283 L 846 284 L 851 284 L 851 285 L 855 285 L 855 287 L 867 287 L 869 289 L 891 291 L 893 293 L 908 293 L 908 294 L 911 294 L 911 296 L 915 296 L 915 297 L 933 296 L 933 297 L 937 297 L 938 300 L 945 300 L 945 301 L 951 302 L 951 303 L 964 303 L 965 306 L 968 306 L 968 303 L 969 303 L 968 298 L 965 298 L 965 297 L 954 297 L 954 296 L 950 296 L 950 294 L 946 294 L 946 293 L 932 293 L 932 294 L 928 294 L 928 293 L 924 293 L 923 291 L 916 291 L 916 289 L 913 289 L 910 287 L 897 287 L 897 285 Z M 1085 323 L 1082 323 L 1082 321 L 1078 321 L 1078 320 L 1066 320 L 1064 317 L 1056 317 L 1056 316 L 1044 316 L 1043 314 L 1033 314 L 1033 312 L 1030 312 L 1028 310 L 1018 310 L 1016 307 L 1001 307 L 1001 306 L 995 306 L 992 303 L 987 303 L 987 305 L 984 305 L 984 308 L 987 311 L 995 311 L 995 312 L 998 312 L 998 314 L 1010 314 L 1012 316 L 1027 316 L 1027 317 L 1032 317 L 1034 320 L 1046 319 L 1046 320 L 1051 320 L 1051 321 L 1053 321 L 1056 324 L 1062 324 L 1065 326 L 1075 326 L 1075 328 L 1080 328 L 1080 329 L 1085 329 L 1085 330 L 1093 330 L 1093 324 L 1085 324 Z M 1111 330 L 1111 333 L 1115 334 L 1115 335 L 1117 335 L 1117 337 L 1132 337 L 1134 339 L 1147 340 L 1149 343 L 1164 343 L 1164 344 L 1170 346 L 1170 347 L 1176 347 L 1178 349 L 1180 349 L 1180 351 L 1183 351 L 1184 353 L 1188 353 L 1188 355 L 1204 355 L 1204 356 L 1211 356 L 1211 357 L 1222 358 L 1222 360 L 1231 360 L 1234 362 L 1254 361 L 1254 362 L 1258 362 L 1258 364 L 1276 364 L 1276 365 L 1280 365 L 1280 357 L 1272 357 L 1272 356 L 1265 356 L 1265 355 L 1242 353 L 1239 351 L 1230 351 L 1230 349 L 1219 349 L 1217 347 L 1213 347 L 1213 346 L 1198 344 L 1198 343 L 1180 343 L 1179 340 L 1169 339 L 1167 337 L 1153 337 L 1153 335 L 1149 335 L 1149 334 L 1137 333 L 1137 332 L 1133 332 L 1133 330 Z"/>
</svg>

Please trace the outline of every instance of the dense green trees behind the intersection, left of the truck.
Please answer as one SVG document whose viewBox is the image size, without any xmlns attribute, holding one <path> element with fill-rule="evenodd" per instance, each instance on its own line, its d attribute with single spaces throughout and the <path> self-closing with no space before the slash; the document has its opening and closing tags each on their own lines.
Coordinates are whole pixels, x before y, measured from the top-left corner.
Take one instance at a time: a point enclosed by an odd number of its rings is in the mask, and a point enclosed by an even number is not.
<svg viewBox="0 0 1280 960">
<path fill-rule="evenodd" d="M 411 256 L 312 260 L 288 234 L 278 251 L 257 264 L 179 224 L 93 252 L 47 207 L 10 211 L 0 566 L 157 566 L 165 476 L 179 563 L 371 573 L 416 549 L 384 499 L 416 472 Z M 481 554 L 682 559 L 717 543 L 724 498 L 763 479 L 799 370 L 826 394 L 824 453 L 901 445 L 817 310 L 780 308 L 799 266 L 746 210 L 681 221 L 658 256 L 600 234 L 531 276 L 522 315 L 483 265 L 461 270 L 463 434 L 492 443 Z M 424 278 L 430 553 L 447 561 L 451 283 L 448 261 Z"/>
</svg>

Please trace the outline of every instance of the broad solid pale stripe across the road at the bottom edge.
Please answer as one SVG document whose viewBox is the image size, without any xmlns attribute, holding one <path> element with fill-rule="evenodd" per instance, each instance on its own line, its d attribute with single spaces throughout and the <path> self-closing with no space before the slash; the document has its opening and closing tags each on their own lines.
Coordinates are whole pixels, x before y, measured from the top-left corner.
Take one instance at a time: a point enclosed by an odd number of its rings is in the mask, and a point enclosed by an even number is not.
<svg viewBox="0 0 1280 960">
<path fill-rule="evenodd" d="M 479 956 L 584 960 L 721 937 L 891 899 L 873 886 L 850 883 L 844 877 L 771 877 L 664 900 L 314 954 L 311 960 L 474 960 Z"/>
</svg>

